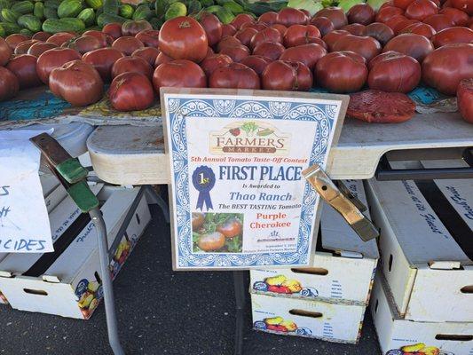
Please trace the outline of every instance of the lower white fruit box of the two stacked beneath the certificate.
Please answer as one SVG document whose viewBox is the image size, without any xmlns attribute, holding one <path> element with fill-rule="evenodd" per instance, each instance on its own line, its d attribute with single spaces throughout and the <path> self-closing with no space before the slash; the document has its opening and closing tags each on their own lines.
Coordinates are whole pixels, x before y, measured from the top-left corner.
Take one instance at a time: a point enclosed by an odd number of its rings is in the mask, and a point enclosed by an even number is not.
<svg viewBox="0 0 473 355">
<path fill-rule="evenodd" d="M 253 328 L 278 335 L 358 343 L 366 307 L 251 295 Z"/>
</svg>

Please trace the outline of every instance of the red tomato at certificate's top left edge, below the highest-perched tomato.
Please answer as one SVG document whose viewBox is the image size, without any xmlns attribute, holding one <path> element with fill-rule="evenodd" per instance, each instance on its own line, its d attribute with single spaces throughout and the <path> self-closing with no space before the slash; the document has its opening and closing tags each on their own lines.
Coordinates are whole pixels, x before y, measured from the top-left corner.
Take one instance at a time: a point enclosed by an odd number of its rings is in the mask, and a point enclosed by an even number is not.
<svg viewBox="0 0 473 355">
<path fill-rule="evenodd" d="M 177 88 L 206 88 L 207 78 L 197 64 L 187 59 L 176 59 L 162 63 L 154 69 L 154 91 L 170 86 Z"/>
</svg>

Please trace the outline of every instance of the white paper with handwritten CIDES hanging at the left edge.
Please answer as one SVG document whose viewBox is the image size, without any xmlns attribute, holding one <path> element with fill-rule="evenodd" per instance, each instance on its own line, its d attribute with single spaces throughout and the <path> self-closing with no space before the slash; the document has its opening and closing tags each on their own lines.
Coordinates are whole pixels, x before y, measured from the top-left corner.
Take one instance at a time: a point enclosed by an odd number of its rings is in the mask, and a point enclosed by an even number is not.
<svg viewBox="0 0 473 355">
<path fill-rule="evenodd" d="M 0 131 L 0 252 L 53 251 L 38 176 L 40 152 L 28 139 L 38 131 Z"/>
</svg>

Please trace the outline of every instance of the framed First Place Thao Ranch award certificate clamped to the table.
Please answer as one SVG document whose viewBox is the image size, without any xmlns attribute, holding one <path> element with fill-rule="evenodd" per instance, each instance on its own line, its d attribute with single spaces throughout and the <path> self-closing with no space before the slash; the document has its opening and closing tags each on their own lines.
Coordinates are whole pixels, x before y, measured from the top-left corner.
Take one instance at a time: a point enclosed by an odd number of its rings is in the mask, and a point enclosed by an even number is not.
<svg viewBox="0 0 473 355">
<path fill-rule="evenodd" d="M 319 195 L 348 99 L 287 91 L 162 90 L 175 269 L 310 263 Z"/>
</svg>

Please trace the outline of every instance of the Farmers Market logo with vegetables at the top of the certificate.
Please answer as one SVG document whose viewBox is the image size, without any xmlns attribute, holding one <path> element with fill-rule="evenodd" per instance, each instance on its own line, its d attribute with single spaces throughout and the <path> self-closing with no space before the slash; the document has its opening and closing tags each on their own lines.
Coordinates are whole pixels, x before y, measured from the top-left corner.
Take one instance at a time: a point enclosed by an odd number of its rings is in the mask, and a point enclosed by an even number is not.
<svg viewBox="0 0 473 355">
<path fill-rule="evenodd" d="M 259 120 L 258 120 L 259 121 Z M 290 135 L 266 122 L 240 121 L 209 134 L 212 154 L 287 155 Z"/>
</svg>

